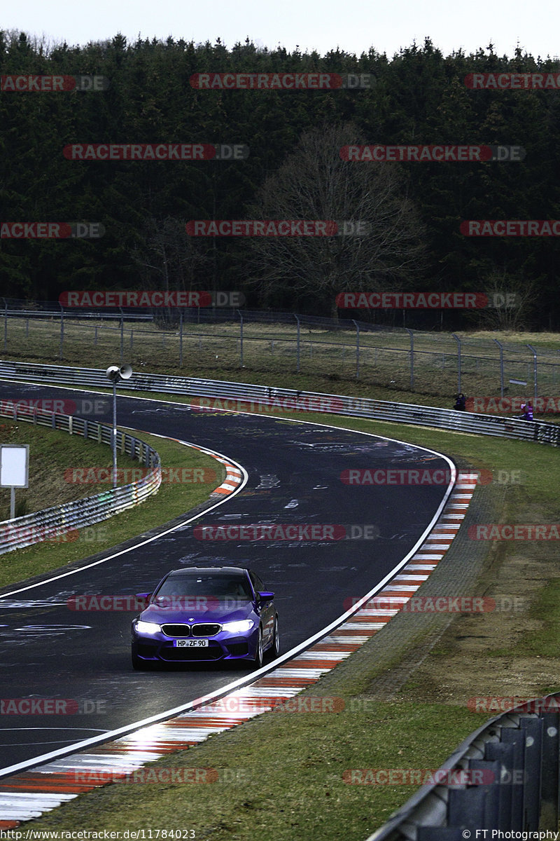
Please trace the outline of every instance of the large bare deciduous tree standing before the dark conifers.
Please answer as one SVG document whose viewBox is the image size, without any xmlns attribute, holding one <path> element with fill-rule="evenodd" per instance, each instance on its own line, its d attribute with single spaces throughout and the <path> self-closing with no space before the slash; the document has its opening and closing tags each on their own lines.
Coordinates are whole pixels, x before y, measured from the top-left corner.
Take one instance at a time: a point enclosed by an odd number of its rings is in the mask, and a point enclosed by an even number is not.
<svg viewBox="0 0 560 841">
<path fill-rule="evenodd" d="M 264 220 L 353 220 L 367 235 L 254 237 L 249 278 L 264 304 L 290 289 L 336 314 L 344 291 L 403 288 L 421 271 L 421 223 L 399 164 L 343 161 L 344 145 L 364 145 L 353 124 L 324 125 L 300 143 L 259 189 L 250 213 Z M 285 295 L 283 296 L 285 298 Z"/>
</svg>

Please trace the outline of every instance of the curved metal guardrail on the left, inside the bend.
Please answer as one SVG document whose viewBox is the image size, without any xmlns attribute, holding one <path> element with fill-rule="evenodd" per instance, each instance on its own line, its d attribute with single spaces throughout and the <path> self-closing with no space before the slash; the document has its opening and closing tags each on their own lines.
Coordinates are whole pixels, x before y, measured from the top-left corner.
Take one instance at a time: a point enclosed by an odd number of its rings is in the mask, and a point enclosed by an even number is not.
<svg viewBox="0 0 560 841">
<path fill-rule="evenodd" d="M 5 402 L 0 402 L 0 415 L 15 421 L 50 426 L 104 444 L 110 445 L 112 442 L 113 428 L 97 421 L 37 409 L 31 411 L 29 406 L 18 409 L 17 403 L 8 405 Z M 149 495 L 156 493 L 161 484 L 159 454 L 148 444 L 121 431 L 117 431 L 117 446 L 120 452 L 149 468 L 148 472 L 130 484 L 104 490 L 102 494 L 0 522 L 0 554 L 44 540 L 62 540 L 68 532 L 106 520 L 113 514 L 139 505 Z"/>
</svg>

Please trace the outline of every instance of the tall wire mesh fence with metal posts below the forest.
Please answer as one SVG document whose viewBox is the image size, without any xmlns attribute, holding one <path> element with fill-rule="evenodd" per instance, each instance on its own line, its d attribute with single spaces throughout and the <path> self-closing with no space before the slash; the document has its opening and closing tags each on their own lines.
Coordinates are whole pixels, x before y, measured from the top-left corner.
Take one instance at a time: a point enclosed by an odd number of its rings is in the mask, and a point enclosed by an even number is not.
<svg viewBox="0 0 560 841">
<path fill-rule="evenodd" d="M 449 396 L 538 394 L 560 388 L 560 348 L 413 331 L 371 322 L 245 309 L 68 308 L 0 299 L 5 356 L 100 365 L 126 359 L 166 370 L 198 367 L 332 376 Z"/>
</svg>

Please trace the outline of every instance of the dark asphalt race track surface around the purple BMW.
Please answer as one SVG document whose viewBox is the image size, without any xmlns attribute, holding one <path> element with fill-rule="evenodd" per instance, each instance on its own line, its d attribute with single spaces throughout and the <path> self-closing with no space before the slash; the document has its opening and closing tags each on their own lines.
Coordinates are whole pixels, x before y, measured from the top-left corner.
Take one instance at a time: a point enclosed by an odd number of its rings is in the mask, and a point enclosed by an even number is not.
<svg viewBox="0 0 560 841">
<path fill-rule="evenodd" d="M 99 398 L 63 388 L 0 383 L 0 399 L 16 395 Z M 108 413 L 96 420 L 111 422 Z M 146 592 L 169 569 L 181 565 L 249 566 L 275 591 L 281 650 L 286 652 L 340 616 L 346 610 L 345 600 L 364 595 L 395 568 L 426 530 L 447 490 L 446 484 L 343 484 L 340 474 L 348 468 L 449 468 L 445 459 L 431 452 L 358 432 L 261 415 L 206 414 L 125 397 L 118 398 L 118 424 L 195 442 L 243 465 L 249 482 L 238 495 L 202 516 L 202 523 L 336 524 L 347 530 L 354 526 L 354 534 L 369 526 L 370 533 L 379 536 L 202 542 L 193 536 L 192 526 L 181 526 L 91 569 L 15 595 L 9 594 L 23 584 L 4 588 L 0 695 L 71 699 L 81 711 L 1 716 L 0 773 L 26 759 L 185 704 L 249 672 L 249 665 L 240 664 L 135 672 L 129 643 L 134 614 L 71 611 L 67 606 L 71 596 Z M 149 529 L 149 521 L 145 525 Z M 108 551 L 107 557 L 113 553 Z"/>
</svg>

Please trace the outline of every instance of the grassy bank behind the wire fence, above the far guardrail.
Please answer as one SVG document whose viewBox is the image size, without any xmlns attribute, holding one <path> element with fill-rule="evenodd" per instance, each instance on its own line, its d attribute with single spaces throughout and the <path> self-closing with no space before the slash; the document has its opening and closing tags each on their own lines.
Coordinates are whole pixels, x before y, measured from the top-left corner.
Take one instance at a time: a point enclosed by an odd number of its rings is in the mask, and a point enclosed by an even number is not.
<svg viewBox="0 0 560 841">
<path fill-rule="evenodd" d="M 269 379 L 288 374 L 299 378 L 296 352 L 296 320 L 293 325 L 243 325 L 243 366 L 240 357 L 240 327 L 237 323 L 185 325 L 182 346 L 178 326 L 160 330 L 154 325 L 128 324 L 123 331 L 122 356 L 133 368 L 154 373 L 184 373 L 191 376 L 228 378 L 254 370 Z M 463 333 L 462 390 L 468 395 L 500 393 L 500 356 L 497 338 L 505 344 L 505 393 L 532 396 L 530 341 L 542 353 L 539 367 L 541 394 L 556 395 L 560 368 L 552 354 L 559 344 L 553 334 L 498 332 Z M 29 347 L 34 346 L 30 358 Z M 4 357 L 34 362 L 83 364 L 84 348 L 97 358 L 100 368 L 121 358 L 119 325 L 95 324 L 65 319 L 64 345 L 60 357 L 60 321 L 8 319 Z M 362 331 L 360 380 L 366 385 L 406 391 L 410 383 L 410 339 L 404 332 Z M 353 330 L 301 329 L 299 367 L 311 378 L 338 378 L 353 383 L 356 374 L 356 333 Z M 451 400 L 457 389 L 457 343 L 451 333 L 415 332 L 414 376 L 417 394 L 432 394 Z M 181 356 L 182 352 L 182 356 Z M 549 364 L 541 364 L 542 362 Z M 86 362 L 89 366 L 91 362 Z M 209 372 L 202 373 L 202 371 Z M 237 372 L 237 374 L 235 373 Z M 334 373 L 336 372 L 336 374 Z M 243 378 L 243 377 L 242 377 Z M 528 380 L 525 392 L 511 387 L 510 378 Z M 330 389 L 327 389 L 330 390 Z M 420 402 L 420 400 L 418 401 Z"/>
</svg>

